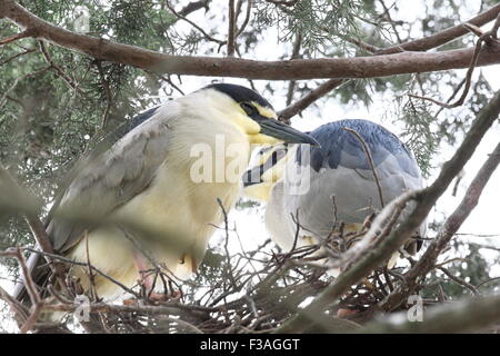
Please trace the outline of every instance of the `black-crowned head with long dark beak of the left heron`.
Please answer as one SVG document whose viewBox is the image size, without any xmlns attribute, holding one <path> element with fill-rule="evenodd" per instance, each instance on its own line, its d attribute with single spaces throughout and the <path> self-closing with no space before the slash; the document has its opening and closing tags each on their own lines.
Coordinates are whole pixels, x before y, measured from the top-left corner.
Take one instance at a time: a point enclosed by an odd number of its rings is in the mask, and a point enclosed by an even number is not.
<svg viewBox="0 0 500 356">
<path fill-rule="evenodd" d="M 250 144 L 274 145 L 280 142 L 318 142 L 299 130 L 278 121 L 278 116 L 268 100 L 256 91 L 237 85 L 214 83 L 204 87 L 212 97 L 211 105 L 226 112 L 231 125 L 236 125 L 249 138 Z"/>
</svg>

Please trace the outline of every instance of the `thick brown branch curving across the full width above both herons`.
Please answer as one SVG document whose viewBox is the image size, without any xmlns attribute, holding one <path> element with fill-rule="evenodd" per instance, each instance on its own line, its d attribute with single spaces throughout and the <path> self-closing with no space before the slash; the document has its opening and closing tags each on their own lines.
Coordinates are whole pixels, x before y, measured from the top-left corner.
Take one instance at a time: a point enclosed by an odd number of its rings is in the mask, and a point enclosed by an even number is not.
<svg viewBox="0 0 500 356">
<path fill-rule="evenodd" d="M 473 49 L 437 53 L 403 52 L 376 57 L 256 61 L 238 58 L 169 56 L 134 46 L 73 33 L 36 17 L 12 0 L 3 0 L 0 17 L 33 31 L 33 37 L 52 41 L 99 60 L 129 65 L 157 72 L 239 77 L 247 79 L 373 78 L 411 72 L 466 68 Z M 486 46 L 478 65 L 500 62 L 500 44 Z"/>
</svg>

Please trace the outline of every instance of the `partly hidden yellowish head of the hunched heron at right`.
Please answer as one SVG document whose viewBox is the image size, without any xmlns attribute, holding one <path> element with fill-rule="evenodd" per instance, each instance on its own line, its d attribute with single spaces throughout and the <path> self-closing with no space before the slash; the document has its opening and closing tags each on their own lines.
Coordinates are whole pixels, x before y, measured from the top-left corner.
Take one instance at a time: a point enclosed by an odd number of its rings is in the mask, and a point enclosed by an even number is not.
<svg viewBox="0 0 500 356">
<path fill-rule="evenodd" d="M 253 167 L 243 175 L 243 192 L 247 197 L 267 201 L 274 184 L 283 177 L 286 164 L 294 148 L 288 145 L 264 147 L 257 152 Z"/>
</svg>

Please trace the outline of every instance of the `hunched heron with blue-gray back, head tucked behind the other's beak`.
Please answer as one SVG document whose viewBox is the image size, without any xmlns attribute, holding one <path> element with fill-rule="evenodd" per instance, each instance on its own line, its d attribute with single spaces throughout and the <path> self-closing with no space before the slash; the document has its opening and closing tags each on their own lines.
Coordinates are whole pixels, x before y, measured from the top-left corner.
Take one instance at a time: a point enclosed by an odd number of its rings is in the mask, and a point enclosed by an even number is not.
<svg viewBox="0 0 500 356">
<path fill-rule="evenodd" d="M 341 120 L 326 123 L 310 136 L 320 146 L 263 149 L 258 165 L 243 177 L 247 196 L 267 201 L 267 229 L 283 250 L 290 250 L 294 243 L 301 247 L 327 238 L 336 216 L 337 222 L 344 222 L 344 231 L 360 231 L 366 218 L 382 208 L 363 141 L 371 152 L 384 204 L 407 190 L 422 188 L 413 156 L 380 125 Z M 412 206 L 407 207 L 401 218 L 411 211 Z M 426 224 L 417 233 L 417 239 L 407 243 L 407 251 L 420 248 L 418 237 L 424 236 Z"/>
</svg>

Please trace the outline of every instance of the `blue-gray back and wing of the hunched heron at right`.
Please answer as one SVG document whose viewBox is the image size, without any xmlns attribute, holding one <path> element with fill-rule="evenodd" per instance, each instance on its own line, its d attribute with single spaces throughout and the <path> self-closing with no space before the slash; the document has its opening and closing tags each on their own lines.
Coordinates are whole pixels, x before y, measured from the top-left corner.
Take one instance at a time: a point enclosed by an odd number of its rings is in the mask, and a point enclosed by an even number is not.
<svg viewBox="0 0 500 356">
<path fill-rule="evenodd" d="M 311 132 L 320 147 L 302 146 L 296 161 L 310 170 L 307 194 L 287 197 L 292 211 L 300 209 L 301 224 L 329 230 L 332 200 L 344 222 L 362 222 L 367 208 L 381 208 L 378 188 L 361 141 L 343 128 L 356 130 L 368 145 L 382 190 L 384 204 L 406 190 L 422 187 L 420 170 L 404 145 L 383 127 L 366 120 L 341 120 Z M 307 155 L 307 150 L 310 149 Z"/>
</svg>

